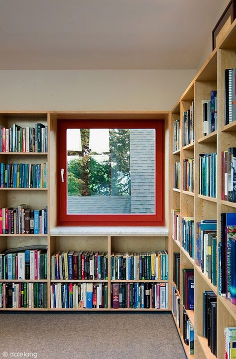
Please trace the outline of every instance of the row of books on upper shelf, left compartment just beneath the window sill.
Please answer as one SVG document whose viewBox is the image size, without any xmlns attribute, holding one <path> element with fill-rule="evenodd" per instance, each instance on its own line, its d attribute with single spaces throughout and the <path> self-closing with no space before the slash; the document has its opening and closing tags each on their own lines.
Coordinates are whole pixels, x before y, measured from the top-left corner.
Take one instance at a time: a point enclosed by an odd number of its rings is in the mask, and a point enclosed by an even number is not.
<svg viewBox="0 0 236 359">
<path fill-rule="evenodd" d="M 51 279 L 108 279 L 108 254 L 64 251 L 51 256 Z"/>
</svg>

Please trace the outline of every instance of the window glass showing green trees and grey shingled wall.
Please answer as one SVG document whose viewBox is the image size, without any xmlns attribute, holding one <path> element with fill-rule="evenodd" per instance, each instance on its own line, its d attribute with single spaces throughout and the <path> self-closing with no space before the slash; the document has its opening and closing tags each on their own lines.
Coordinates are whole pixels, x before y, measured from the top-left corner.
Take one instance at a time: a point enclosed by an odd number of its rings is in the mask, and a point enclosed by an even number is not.
<svg viewBox="0 0 236 359">
<path fill-rule="evenodd" d="M 68 214 L 155 213 L 154 129 L 68 129 Z"/>
</svg>

